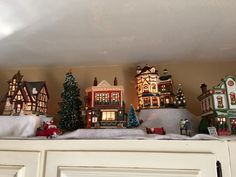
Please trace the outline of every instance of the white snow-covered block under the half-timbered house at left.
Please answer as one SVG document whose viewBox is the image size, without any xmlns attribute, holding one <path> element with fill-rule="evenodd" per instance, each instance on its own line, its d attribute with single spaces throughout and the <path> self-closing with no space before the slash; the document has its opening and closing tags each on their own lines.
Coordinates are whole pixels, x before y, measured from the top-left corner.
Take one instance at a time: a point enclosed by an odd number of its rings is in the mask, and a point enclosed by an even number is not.
<svg viewBox="0 0 236 177">
<path fill-rule="evenodd" d="M 35 136 L 40 122 L 40 118 L 35 115 L 0 116 L 0 137 Z"/>
</svg>

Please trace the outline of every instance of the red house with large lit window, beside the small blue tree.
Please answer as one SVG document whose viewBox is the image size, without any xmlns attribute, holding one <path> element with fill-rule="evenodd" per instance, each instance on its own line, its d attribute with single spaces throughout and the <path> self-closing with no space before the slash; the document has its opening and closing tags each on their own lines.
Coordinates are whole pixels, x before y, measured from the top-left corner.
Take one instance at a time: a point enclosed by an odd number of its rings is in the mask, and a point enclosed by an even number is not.
<svg viewBox="0 0 236 177">
<path fill-rule="evenodd" d="M 103 80 L 98 85 L 96 82 L 85 91 L 87 128 L 126 126 L 124 117 L 125 105 L 123 103 L 124 88 L 121 85 L 117 85 L 116 78 L 114 85 L 110 85 Z"/>
</svg>

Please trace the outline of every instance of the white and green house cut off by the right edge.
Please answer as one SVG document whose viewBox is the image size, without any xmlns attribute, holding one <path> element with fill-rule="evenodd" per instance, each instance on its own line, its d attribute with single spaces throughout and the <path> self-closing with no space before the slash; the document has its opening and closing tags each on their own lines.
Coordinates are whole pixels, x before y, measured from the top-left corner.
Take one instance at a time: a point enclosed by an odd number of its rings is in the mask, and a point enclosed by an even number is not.
<svg viewBox="0 0 236 177">
<path fill-rule="evenodd" d="M 207 89 L 201 85 L 202 94 L 198 97 L 201 103 L 202 118 L 209 126 L 216 127 L 219 135 L 236 133 L 236 77 L 226 76 L 221 82 Z"/>
</svg>

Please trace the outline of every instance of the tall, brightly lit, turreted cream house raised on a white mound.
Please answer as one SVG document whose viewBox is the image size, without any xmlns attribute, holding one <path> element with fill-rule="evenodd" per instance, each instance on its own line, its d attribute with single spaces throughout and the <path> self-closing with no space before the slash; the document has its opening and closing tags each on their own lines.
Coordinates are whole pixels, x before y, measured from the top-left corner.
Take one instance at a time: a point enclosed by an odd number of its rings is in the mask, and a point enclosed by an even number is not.
<svg viewBox="0 0 236 177">
<path fill-rule="evenodd" d="M 138 109 L 174 107 L 172 76 L 166 69 L 161 76 L 154 66 L 138 66 L 136 71 Z"/>
</svg>

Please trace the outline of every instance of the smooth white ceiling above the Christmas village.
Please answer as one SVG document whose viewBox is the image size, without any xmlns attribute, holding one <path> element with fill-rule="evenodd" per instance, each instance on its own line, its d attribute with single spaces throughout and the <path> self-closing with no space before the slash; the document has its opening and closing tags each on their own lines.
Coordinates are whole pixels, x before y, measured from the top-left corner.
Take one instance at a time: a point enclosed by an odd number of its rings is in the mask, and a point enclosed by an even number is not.
<svg viewBox="0 0 236 177">
<path fill-rule="evenodd" d="M 235 0 L 0 0 L 0 67 L 236 60 Z"/>
</svg>

